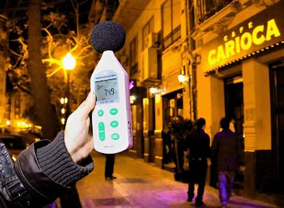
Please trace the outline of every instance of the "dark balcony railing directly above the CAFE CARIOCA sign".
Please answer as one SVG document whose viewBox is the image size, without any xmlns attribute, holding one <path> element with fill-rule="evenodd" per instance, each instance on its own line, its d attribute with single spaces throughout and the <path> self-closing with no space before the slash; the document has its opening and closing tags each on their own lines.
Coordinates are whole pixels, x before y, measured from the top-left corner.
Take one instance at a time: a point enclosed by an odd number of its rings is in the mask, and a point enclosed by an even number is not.
<svg viewBox="0 0 284 208">
<path fill-rule="evenodd" d="M 239 3 L 238 0 L 197 0 L 196 13 L 198 24 L 213 16 L 216 12 L 222 10 L 228 4 Z"/>
</svg>

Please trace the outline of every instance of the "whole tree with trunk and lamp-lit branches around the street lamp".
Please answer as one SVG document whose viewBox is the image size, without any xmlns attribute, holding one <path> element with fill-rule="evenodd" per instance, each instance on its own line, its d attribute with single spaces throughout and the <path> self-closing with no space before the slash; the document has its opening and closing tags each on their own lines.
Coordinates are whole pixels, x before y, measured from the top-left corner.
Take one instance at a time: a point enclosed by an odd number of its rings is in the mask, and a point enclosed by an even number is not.
<svg viewBox="0 0 284 208">
<path fill-rule="evenodd" d="M 75 19 L 75 24 L 73 24 L 75 30 L 70 29 L 71 24 L 67 25 L 68 19 L 64 14 L 47 12 L 49 8 L 54 7 L 54 4 L 62 2 L 65 0 L 50 3 L 42 0 L 19 1 L 16 5 L 12 5 L 13 11 L 21 11 L 19 16 L 11 12 L 11 7 L 6 5 L 7 7 L 3 11 L 8 12 L 3 12 L 5 14 L 3 22 L 5 23 L 1 24 L 3 32 L 0 31 L 0 38 L 1 35 L 9 37 L 1 38 L 1 40 L 10 39 L 10 44 L 2 41 L 1 46 L 4 46 L 5 51 L 9 52 L 6 57 L 12 57 L 8 68 L 12 86 L 17 86 L 17 89 L 32 94 L 36 118 L 38 118 L 38 123 L 43 126 L 45 138 L 54 138 L 56 133 L 57 120 L 54 118 L 52 106 L 56 105 L 62 96 L 65 88 L 64 80 L 66 82 L 66 72 L 62 70 L 60 65 L 61 58 L 68 51 L 72 51 L 79 60 L 77 69 L 71 76 L 71 79 L 76 77 L 72 81 L 71 88 L 74 105 L 78 105 L 88 91 L 90 71 L 93 70 L 95 62 L 87 60 L 90 60 L 90 57 L 91 60 L 97 59 L 97 55 L 88 43 L 90 25 L 84 25 L 85 29 L 82 33 L 80 32 L 81 27 L 79 27 L 79 8 L 86 1 L 78 3 L 78 1 L 71 0 L 75 16 L 69 16 Z M 23 3 L 23 5 L 20 6 L 19 3 Z M 43 11 L 42 8 L 44 8 Z M 25 19 L 27 9 L 28 22 Z M 43 25 L 40 21 L 41 12 L 45 12 Z M 28 31 L 26 31 L 27 28 Z M 23 73 L 25 68 L 27 68 L 28 76 Z M 16 73 L 19 70 L 21 73 Z"/>
</svg>

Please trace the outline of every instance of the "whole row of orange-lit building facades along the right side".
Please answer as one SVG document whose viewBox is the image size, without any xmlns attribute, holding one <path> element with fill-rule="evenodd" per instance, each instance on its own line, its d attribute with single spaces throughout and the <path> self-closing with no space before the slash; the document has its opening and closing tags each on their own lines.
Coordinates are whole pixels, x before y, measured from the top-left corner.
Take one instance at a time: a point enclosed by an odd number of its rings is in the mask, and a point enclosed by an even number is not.
<svg viewBox="0 0 284 208">
<path fill-rule="evenodd" d="M 283 196 L 284 1 L 120 1 L 118 52 L 133 83 L 133 157 L 165 168 L 162 131 L 177 116 L 224 116 L 244 138 L 244 195 Z M 182 75 L 182 76 L 178 76 Z M 178 79 L 182 77 L 185 79 Z"/>
</svg>

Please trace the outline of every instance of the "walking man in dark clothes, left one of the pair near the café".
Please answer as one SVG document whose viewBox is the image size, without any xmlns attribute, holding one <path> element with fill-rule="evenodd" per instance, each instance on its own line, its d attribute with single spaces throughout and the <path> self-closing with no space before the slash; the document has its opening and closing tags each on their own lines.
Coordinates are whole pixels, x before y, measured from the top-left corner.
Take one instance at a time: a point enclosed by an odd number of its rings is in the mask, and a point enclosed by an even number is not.
<svg viewBox="0 0 284 208">
<path fill-rule="evenodd" d="M 187 134 L 185 139 L 185 151 L 189 158 L 189 187 L 187 201 L 191 202 L 194 197 L 194 185 L 198 183 L 198 193 L 196 196 L 196 206 L 204 205 L 203 194 L 206 181 L 207 167 L 210 161 L 210 138 L 205 133 L 206 120 L 199 118 L 196 121 L 196 129 Z M 185 154 L 187 154 L 185 153 Z"/>
</svg>

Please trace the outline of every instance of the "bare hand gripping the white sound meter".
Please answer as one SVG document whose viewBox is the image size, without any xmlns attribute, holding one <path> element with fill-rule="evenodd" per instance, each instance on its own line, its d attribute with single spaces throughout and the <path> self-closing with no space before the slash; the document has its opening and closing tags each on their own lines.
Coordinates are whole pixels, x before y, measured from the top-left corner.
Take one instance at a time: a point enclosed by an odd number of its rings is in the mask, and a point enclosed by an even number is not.
<svg viewBox="0 0 284 208">
<path fill-rule="evenodd" d="M 93 151 L 93 135 L 88 133 L 91 122 L 88 114 L 94 107 L 95 94 L 90 92 L 86 100 L 67 119 L 64 142 L 75 163 L 79 163 Z"/>
</svg>

